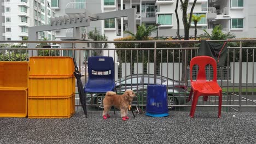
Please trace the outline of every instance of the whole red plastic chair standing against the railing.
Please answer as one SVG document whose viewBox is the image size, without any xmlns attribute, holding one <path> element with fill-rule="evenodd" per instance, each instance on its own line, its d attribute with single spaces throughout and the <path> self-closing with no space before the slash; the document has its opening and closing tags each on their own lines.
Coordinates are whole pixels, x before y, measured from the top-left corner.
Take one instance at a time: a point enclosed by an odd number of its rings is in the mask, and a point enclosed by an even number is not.
<svg viewBox="0 0 256 144">
<path fill-rule="evenodd" d="M 199 66 L 199 71 L 197 73 L 196 81 L 192 79 L 192 68 L 194 65 Z M 213 67 L 213 80 L 207 81 L 205 74 L 205 66 L 211 64 Z M 220 113 L 222 110 L 222 88 L 219 87 L 217 83 L 217 64 L 214 58 L 208 56 L 197 56 L 191 59 L 190 61 L 190 82 L 191 82 L 191 91 L 189 94 L 189 99 L 194 92 L 194 97 L 190 110 L 190 117 L 193 118 L 195 114 L 196 104 L 199 96 L 204 96 L 203 100 L 207 101 L 208 95 L 219 96 L 219 112 L 218 117 L 220 118 Z"/>
</svg>

